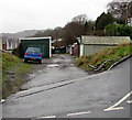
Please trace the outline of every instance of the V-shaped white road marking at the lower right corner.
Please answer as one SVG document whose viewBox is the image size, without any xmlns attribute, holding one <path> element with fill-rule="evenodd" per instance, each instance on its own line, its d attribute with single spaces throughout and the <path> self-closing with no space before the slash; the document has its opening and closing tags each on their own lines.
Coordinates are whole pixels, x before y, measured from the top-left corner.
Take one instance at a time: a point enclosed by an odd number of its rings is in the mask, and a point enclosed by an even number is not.
<svg viewBox="0 0 132 120">
<path fill-rule="evenodd" d="M 123 102 L 127 98 L 129 98 L 132 95 L 132 91 L 130 91 L 127 96 L 124 96 L 121 100 L 119 100 L 117 103 L 114 103 L 113 106 L 105 109 L 103 111 L 111 111 L 111 110 L 117 110 L 117 109 L 123 109 L 123 107 L 117 107 L 119 106 L 121 102 Z M 117 108 L 116 108 L 117 107 Z"/>
</svg>

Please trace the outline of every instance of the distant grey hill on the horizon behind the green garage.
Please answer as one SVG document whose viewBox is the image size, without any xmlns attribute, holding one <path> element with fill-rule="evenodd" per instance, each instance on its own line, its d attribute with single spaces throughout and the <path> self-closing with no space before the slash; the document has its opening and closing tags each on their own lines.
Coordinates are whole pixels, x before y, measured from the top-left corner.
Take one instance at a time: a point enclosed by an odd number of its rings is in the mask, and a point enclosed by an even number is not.
<svg viewBox="0 0 132 120">
<path fill-rule="evenodd" d="M 24 37 L 24 36 L 32 36 L 40 31 L 43 32 L 44 30 L 25 30 L 25 31 L 21 31 L 21 32 L 16 32 L 16 33 L 0 33 L 0 36 L 19 39 L 19 37 Z"/>
</svg>

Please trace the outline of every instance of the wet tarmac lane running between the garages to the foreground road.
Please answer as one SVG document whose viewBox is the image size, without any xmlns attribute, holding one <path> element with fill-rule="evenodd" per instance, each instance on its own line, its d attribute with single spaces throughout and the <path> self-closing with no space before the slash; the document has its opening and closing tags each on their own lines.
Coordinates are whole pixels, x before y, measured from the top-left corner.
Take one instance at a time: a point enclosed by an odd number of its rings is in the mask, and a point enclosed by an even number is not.
<svg viewBox="0 0 132 120">
<path fill-rule="evenodd" d="M 87 73 L 74 66 L 74 59 L 69 55 L 54 55 L 53 59 L 43 59 L 46 68 L 40 72 L 40 75 L 32 75 L 33 78 L 30 83 L 22 86 L 22 89 L 32 87 L 41 87 L 59 81 L 70 80 L 74 78 L 81 78 L 88 76 Z"/>
</svg>

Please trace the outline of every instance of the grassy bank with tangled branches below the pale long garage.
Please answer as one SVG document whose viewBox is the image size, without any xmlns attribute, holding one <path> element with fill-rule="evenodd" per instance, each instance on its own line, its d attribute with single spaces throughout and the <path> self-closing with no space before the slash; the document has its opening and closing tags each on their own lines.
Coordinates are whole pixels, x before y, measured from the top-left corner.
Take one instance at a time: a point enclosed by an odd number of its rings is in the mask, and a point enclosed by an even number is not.
<svg viewBox="0 0 132 120">
<path fill-rule="evenodd" d="M 90 74 L 100 73 L 129 55 L 132 55 L 132 47 L 130 44 L 123 43 L 114 47 L 105 48 L 94 55 L 81 56 L 76 59 L 75 65 L 88 70 Z"/>
</svg>

